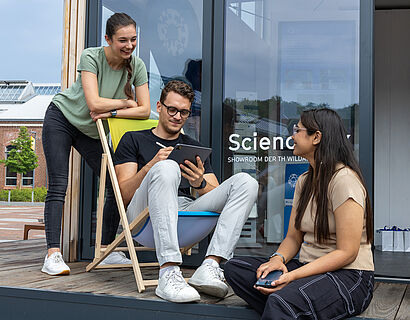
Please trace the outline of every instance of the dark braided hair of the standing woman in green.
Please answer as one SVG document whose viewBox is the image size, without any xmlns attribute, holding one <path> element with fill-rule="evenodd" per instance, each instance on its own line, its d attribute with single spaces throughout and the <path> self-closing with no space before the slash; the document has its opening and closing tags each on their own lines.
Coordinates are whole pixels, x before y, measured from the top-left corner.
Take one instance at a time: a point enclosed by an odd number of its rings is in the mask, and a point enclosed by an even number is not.
<svg viewBox="0 0 410 320">
<path fill-rule="evenodd" d="M 135 28 L 137 24 L 135 21 L 126 13 L 114 13 L 107 20 L 107 25 L 105 27 L 105 34 L 108 38 L 112 39 L 112 36 L 115 34 L 118 28 L 126 27 L 133 25 Z M 125 60 L 125 69 L 127 70 L 127 83 L 124 87 L 124 93 L 128 99 L 134 99 L 134 92 L 131 87 L 131 76 L 132 76 L 132 67 L 131 67 L 131 57 Z"/>
</svg>

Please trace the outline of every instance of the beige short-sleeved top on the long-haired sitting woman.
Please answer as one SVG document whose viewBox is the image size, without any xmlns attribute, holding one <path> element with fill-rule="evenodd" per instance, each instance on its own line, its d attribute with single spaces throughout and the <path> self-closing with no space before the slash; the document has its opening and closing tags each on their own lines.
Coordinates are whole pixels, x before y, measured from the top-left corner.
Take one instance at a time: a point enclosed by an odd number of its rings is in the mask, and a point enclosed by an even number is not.
<svg viewBox="0 0 410 320">
<path fill-rule="evenodd" d="M 330 239 L 325 244 L 318 244 L 315 240 L 314 225 L 316 215 L 316 204 L 310 199 L 305 214 L 301 222 L 301 231 L 304 232 L 303 243 L 299 253 L 299 260 L 303 263 L 311 262 L 325 254 L 336 250 L 336 224 L 334 212 L 346 200 L 353 199 L 363 208 L 366 207 L 366 190 L 356 173 L 348 168 L 341 167 L 335 173 L 329 183 L 329 232 Z M 293 198 L 293 207 L 297 207 L 300 192 L 306 175 L 300 176 L 295 188 Z M 363 219 L 362 238 L 360 240 L 360 249 L 356 260 L 343 267 L 343 269 L 357 269 L 374 271 L 373 255 L 371 245 L 366 243 L 366 217 Z"/>
</svg>

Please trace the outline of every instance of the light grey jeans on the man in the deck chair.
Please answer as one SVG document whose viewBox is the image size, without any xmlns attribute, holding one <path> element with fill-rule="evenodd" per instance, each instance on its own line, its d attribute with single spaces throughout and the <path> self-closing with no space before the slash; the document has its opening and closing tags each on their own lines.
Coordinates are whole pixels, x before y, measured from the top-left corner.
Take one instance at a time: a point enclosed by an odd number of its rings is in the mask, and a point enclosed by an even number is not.
<svg viewBox="0 0 410 320">
<path fill-rule="evenodd" d="M 219 212 L 206 255 L 231 258 L 256 201 L 257 181 L 247 173 L 237 173 L 196 200 L 178 197 L 180 181 L 181 171 L 175 161 L 157 162 L 128 205 L 128 221 L 149 208 L 157 259 L 163 265 L 166 262 L 182 263 L 177 236 L 178 210 Z"/>
</svg>

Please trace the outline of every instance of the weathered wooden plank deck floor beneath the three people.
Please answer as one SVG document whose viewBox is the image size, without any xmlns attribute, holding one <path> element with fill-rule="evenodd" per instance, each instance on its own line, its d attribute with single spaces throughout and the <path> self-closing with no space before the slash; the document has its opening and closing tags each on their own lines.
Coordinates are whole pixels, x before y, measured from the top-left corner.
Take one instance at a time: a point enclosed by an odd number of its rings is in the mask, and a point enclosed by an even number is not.
<svg viewBox="0 0 410 320">
<path fill-rule="evenodd" d="M 44 239 L 0 244 L 0 287 L 33 288 L 59 292 L 92 293 L 105 296 L 161 300 L 155 287 L 138 293 L 131 269 L 95 270 L 85 272 L 87 262 L 71 263 L 71 275 L 51 277 L 40 272 L 44 254 Z M 155 279 L 156 268 L 143 268 L 144 277 Z M 184 269 L 189 277 L 193 270 Z M 225 299 L 202 295 L 201 304 L 243 306 L 246 304 L 232 291 Z M 376 282 L 374 298 L 361 317 L 367 319 L 410 319 L 410 285 Z"/>
</svg>

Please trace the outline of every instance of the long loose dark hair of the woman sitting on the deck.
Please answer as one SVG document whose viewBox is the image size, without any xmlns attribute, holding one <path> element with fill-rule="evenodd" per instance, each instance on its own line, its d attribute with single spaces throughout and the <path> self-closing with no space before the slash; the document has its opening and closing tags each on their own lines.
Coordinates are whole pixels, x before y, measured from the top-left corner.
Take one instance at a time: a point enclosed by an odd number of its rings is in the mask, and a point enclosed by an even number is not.
<svg viewBox="0 0 410 320">
<path fill-rule="evenodd" d="M 336 165 L 342 163 L 352 169 L 366 190 L 366 234 L 367 242 L 373 240 L 373 213 L 369 193 L 364 184 L 359 164 L 353 154 L 353 146 L 347 139 L 347 133 L 339 115 L 331 109 L 312 109 L 302 112 L 300 121 L 312 135 L 317 131 L 322 138 L 314 153 L 315 168 L 309 166 L 296 208 L 295 228 L 300 230 L 303 215 L 311 197 L 317 205 L 315 217 L 315 238 L 318 243 L 329 239 L 328 221 L 328 186 L 336 173 Z"/>
</svg>

